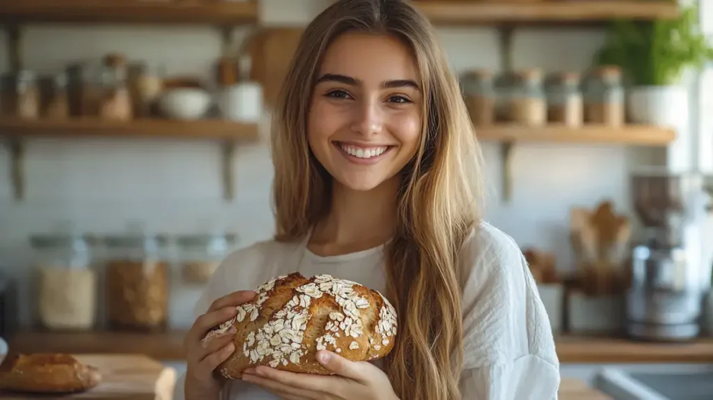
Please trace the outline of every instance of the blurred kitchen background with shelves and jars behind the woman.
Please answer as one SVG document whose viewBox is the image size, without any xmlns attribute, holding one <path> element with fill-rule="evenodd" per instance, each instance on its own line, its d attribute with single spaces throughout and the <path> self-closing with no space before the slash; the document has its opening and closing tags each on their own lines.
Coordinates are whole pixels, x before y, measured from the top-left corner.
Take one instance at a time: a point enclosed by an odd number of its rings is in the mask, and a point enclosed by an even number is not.
<svg viewBox="0 0 713 400">
<path fill-rule="evenodd" d="M 11 350 L 184 368 L 215 263 L 272 235 L 270 108 L 329 3 L 0 1 Z M 486 220 L 540 284 L 560 399 L 712 399 L 713 51 L 690 33 L 713 5 L 415 3 L 461 76 Z"/>
</svg>

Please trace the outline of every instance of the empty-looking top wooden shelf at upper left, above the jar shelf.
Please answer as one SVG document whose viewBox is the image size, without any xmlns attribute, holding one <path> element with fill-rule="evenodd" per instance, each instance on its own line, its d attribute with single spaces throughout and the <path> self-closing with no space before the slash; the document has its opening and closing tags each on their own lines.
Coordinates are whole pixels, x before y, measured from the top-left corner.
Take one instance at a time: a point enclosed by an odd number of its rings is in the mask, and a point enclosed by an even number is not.
<svg viewBox="0 0 713 400">
<path fill-rule="evenodd" d="M 258 20 L 257 1 L 0 0 L 0 21 L 215 24 Z"/>
</svg>

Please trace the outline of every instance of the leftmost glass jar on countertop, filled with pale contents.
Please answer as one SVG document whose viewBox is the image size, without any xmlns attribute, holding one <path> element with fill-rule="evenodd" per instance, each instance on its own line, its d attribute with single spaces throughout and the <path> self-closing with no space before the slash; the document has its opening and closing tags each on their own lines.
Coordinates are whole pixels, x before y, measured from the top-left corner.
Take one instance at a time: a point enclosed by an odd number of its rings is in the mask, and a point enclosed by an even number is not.
<svg viewBox="0 0 713 400">
<path fill-rule="evenodd" d="M 37 312 L 46 329 L 86 330 L 96 322 L 97 278 L 78 235 L 31 237 L 38 267 Z"/>
</svg>

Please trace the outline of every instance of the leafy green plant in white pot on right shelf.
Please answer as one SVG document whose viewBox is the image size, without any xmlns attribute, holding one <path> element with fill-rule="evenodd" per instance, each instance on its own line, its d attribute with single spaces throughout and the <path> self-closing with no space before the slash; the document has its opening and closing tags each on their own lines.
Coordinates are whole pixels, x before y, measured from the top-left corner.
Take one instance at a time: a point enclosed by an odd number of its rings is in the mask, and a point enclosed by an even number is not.
<svg viewBox="0 0 713 400">
<path fill-rule="evenodd" d="M 688 118 L 684 71 L 711 60 L 713 47 L 700 31 L 697 6 L 682 9 L 676 19 L 613 21 L 595 55 L 597 65 L 622 69 L 632 122 L 669 126 Z"/>
</svg>

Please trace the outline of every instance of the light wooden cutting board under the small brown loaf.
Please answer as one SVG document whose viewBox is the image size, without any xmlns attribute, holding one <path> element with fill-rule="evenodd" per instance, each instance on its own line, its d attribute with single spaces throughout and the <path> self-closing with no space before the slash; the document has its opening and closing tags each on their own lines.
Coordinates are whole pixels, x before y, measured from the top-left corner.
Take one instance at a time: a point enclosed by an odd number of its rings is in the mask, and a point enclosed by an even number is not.
<svg viewBox="0 0 713 400">
<path fill-rule="evenodd" d="M 73 354 L 99 369 L 95 388 L 66 396 L 0 393 L 2 400 L 171 400 L 176 371 L 141 354 Z"/>
</svg>

